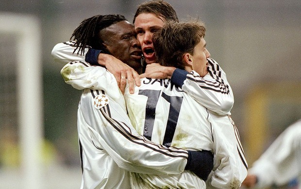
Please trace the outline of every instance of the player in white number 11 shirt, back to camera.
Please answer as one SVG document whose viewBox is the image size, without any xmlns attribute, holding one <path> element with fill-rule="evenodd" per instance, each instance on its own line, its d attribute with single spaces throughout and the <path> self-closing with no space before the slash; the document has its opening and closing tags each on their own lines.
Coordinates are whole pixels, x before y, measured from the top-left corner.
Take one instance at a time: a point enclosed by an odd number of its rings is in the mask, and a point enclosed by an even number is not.
<svg viewBox="0 0 301 189">
<path fill-rule="evenodd" d="M 189 79 L 212 82 L 214 79 L 207 71 L 210 53 L 204 35 L 202 23 L 166 22 L 152 39 L 157 61 L 188 71 Z M 247 163 L 231 118 L 201 106 L 170 79 L 144 78 L 141 83 L 134 94 L 129 94 L 127 88 L 124 94 L 129 117 L 138 133 L 165 146 L 211 150 L 215 163 L 208 188 L 239 188 L 247 175 Z M 152 116 L 152 122 L 146 116 Z M 202 187 L 201 179 L 186 171 L 177 175 L 132 174 L 140 188 Z"/>
</svg>

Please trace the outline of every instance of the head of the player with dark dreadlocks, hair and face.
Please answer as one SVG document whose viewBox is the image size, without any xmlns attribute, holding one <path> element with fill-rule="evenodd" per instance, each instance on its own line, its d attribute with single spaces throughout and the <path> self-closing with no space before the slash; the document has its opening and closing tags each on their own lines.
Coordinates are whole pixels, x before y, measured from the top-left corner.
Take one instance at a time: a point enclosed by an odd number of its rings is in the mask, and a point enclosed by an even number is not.
<svg viewBox="0 0 301 189">
<path fill-rule="evenodd" d="M 126 18 L 122 15 L 97 15 L 85 19 L 80 26 L 75 29 L 70 38 L 70 40 L 73 38 L 73 40 L 76 41 L 76 48 L 74 49 L 73 53 L 75 53 L 78 49 L 77 54 L 81 52 L 81 55 L 83 55 L 85 47 L 98 49 L 105 54 L 111 54 L 115 56 L 123 63 L 126 63 L 134 68 L 134 70 L 138 73 L 141 73 L 142 53 L 140 52 L 140 46 L 138 44 L 134 43 L 134 48 L 136 50 L 133 52 L 124 51 L 124 53 L 120 53 L 122 52 L 122 49 L 120 48 L 130 47 L 130 44 L 128 46 L 124 46 L 124 43 L 131 42 L 127 38 L 130 36 L 135 36 L 134 31 L 129 31 L 128 33 L 120 33 L 119 31 L 120 38 L 110 38 L 110 35 L 108 35 L 111 34 L 108 28 L 118 22 L 124 23 L 124 25 L 126 25 L 125 27 L 127 28 L 132 28 L 132 25 L 129 25 Z M 112 43 L 109 44 L 109 42 Z M 111 49 L 108 49 L 108 47 L 111 47 Z"/>
</svg>

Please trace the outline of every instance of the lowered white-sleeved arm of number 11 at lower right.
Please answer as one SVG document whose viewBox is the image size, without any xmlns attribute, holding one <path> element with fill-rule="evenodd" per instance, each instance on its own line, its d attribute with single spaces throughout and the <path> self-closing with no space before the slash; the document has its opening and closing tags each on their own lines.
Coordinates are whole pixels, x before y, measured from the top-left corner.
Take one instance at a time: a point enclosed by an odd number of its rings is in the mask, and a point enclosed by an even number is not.
<svg viewBox="0 0 301 189">
<path fill-rule="evenodd" d="M 213 128 L 214 161 L 217 163 L 206 181 L 207 185 L 217 189 L 238 189 L 248 173 L 238 131 L 236 127 L 217 126 L 212 119 L 210 122 Z"/>
</svg>

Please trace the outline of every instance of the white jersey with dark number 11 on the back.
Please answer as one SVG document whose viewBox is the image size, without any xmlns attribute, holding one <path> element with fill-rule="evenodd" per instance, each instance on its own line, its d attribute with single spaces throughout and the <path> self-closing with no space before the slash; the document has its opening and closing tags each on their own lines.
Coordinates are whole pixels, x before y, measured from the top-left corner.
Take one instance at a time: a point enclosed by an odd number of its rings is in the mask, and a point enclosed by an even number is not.
<svg viewBox="0 0 301 189">
<path fill-rule="evenodd" d="M 192 71 L 191 76 L 199 75 Z M 208 75 L 203 79 L 210 81 Z M 124 94 L 131 122 L 152 142 L 214 153 L 208 188 L 237 189 L 247 175 L 239 135 L 229 115 L 218 115 L 197 103 L 169 79 L 141 80 L 134 94 Z M 176 175 L 131 173 L 136 189 L 202 189 L 204 181 L 189 171 Z"/>
</svg>

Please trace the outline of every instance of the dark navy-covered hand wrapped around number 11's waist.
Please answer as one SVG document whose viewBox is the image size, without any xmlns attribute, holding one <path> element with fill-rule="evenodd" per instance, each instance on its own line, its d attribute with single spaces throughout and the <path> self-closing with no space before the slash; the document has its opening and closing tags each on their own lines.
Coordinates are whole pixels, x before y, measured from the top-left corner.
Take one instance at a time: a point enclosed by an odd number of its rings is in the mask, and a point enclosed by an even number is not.
<svg viewBox="0 0 301 189">
<path fill-rule="evenodd" d="M 190 170 L 204 181 L 213 169 L 213 154 L 210 151 L 189 151 L 185 170 Z"/>
</svg>

